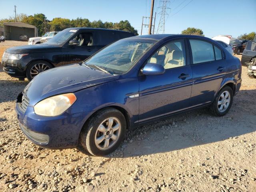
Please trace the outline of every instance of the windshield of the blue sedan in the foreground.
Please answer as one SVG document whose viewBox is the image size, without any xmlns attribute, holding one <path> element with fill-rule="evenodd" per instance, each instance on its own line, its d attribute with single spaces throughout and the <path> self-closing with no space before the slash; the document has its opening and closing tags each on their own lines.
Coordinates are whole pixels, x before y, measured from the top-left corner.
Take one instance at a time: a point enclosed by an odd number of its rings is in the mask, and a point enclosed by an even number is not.
<svg viewBox="0 0 256 192">
<path fill-rule="evenodd" d="M 152 42 L 120 40 L 92 56 L 86 65 L 102 68 L 110 74 L 124 74 L 152 45 Z"/>
</svg>

